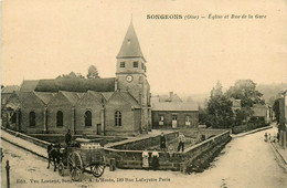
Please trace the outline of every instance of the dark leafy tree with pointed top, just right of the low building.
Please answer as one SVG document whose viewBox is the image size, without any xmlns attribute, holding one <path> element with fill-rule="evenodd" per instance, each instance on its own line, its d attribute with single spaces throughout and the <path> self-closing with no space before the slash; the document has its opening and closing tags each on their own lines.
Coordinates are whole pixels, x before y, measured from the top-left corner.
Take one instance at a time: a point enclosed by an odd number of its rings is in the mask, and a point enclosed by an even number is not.
<svg viewBox="0 0 287 188">
<path fill-rule="evenodd" d="M 208 102 L 208 122 L 214 128 L 230 128 L 233 125 L 232 102 L 223 94 L 220 82 L 212 88 Z"/>
</svg>

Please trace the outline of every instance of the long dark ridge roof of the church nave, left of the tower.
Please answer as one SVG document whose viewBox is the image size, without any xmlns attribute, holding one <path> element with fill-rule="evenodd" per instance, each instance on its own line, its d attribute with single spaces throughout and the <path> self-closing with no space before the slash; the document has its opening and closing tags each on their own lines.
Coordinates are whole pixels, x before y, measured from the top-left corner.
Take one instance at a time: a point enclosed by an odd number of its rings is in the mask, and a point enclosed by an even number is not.
<svg viewBox="0 0 287 188">
<path fill-rule="evenodd" d="M 55 79 L 40 80 L 36 92 L 114 92 L 115 77 L 111 79 Z"/>
</svg>

